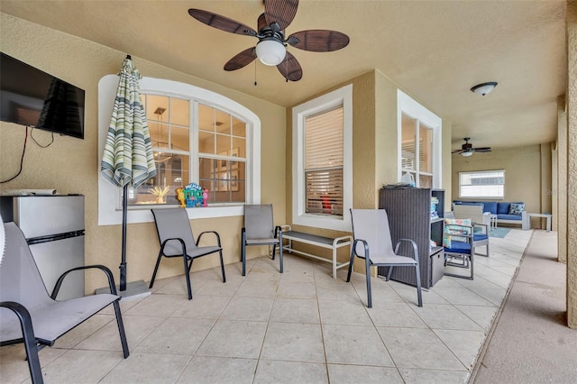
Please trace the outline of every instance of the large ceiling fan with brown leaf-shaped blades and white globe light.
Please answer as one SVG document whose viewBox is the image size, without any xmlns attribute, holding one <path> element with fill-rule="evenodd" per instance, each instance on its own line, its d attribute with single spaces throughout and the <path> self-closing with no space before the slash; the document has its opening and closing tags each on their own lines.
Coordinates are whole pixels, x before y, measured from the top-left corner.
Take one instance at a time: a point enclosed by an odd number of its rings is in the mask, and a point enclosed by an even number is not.
<svg viewBox="0 0 577 384">
<path fill-rule="evenodd" d="M 297 14 L 298 0 L 262 0 L 262 2 L 264 14 L 258 18 L 258 31 L 219 14 L 195 8 L 188 10 L 188 14 L 201 23 L 221 31 L 259 39 L 255 47 L 243 50 L 228 60 L 224 64 L 224 70 L 242 69 L 258 58 L 265 65 L 276 65 L 287 81 L 298 81 L 303 77 L 303 70 L 298 60 L 287 51 L 287 44 L 299 50 L 328 52 L 340 50 L 349 43 L 346 34 L 330 30 L 305 30 L 292 33 L 285 39 L 285 29 Z"/>
</svg>

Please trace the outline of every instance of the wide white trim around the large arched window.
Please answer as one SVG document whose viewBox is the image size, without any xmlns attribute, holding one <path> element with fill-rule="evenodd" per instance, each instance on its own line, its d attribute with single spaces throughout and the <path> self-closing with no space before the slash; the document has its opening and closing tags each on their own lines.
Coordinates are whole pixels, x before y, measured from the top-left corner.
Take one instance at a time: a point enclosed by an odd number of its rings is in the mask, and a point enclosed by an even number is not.
<svg viewBox="0 0 577 384">
<path fill-rule="evenodd" d="M 98 82 L 98 225 L 122 224 L 123 221 L 122 205 L 120 194 L 118 193 L 119 188 L 114 187 L 100 174 L 100 162 L 105 148 L 106 133 L 114 107 L 118 80 L 117 75 L 106 75 Z M 142 92 L 190 96 L 195 100 L 206 103 L 206 105 L 214 105 L 231 114 L 242 116 L 246 120 L 247 133 L 250 132 L 247 136 L 251 138 L 251 140 L 247 138 L 246 149 L 246 178 L 251 180 L 246 184 L 246 203 L 261 203 L 261 120 L 256 114 L 228 97 L 178 81 L 142 78 L 140 87 Z M 242 216 L 243 205 L 187 208 L 187 211 L 190 219 Z M 129 224 L 153 222 L 151 206 L 130 206 L 128 208 L 127 221 Z"/>
</svg>

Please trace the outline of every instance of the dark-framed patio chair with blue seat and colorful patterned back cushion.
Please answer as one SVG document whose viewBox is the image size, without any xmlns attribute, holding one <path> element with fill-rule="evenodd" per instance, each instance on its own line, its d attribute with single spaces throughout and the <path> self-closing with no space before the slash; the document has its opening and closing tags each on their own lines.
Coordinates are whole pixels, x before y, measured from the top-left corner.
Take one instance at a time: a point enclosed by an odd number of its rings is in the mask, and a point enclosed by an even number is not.
<svg viewBox="0 0 577 384">
<path fill-rule="evenodd" d="M 469 275 L 445 271 L 445 276 L 473 279 L 475 254 L 473 231 L 474 227 L 471 219 L 444 219 L 444 265 L 470 271 Z M 489 251 L 487 254 L 489 254 Z"/>
</svg>

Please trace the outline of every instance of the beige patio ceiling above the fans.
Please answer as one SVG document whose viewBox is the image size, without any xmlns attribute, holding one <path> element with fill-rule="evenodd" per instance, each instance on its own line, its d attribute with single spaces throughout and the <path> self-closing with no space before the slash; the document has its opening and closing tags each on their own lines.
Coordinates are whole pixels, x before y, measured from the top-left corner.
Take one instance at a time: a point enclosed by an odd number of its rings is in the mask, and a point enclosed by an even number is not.
<svg viewBox="0 0 577 384">
<path fill-rule="evenodd" d="M 351 38 L 343 50 L 289 47 L 303 78 L 286 83 L 260 63 L 234 72 L 224 63 L 256 39 L 222 32 L 188 15 L 221 14 L 257 28 L 261 0 L 2 0 L 5 14 L 96 41 L 224 87 L 294 105 L 372 69 L 453 123 L 453 149 L 554 141 L 557 96 L 565 93 L 565 1 L 301 0 L 287 35 L 330 29 Z M 258 86 L 254 86 L 255 79 Z M 143 74 L 146 76 L 146 74 Z M 469 89 L 497 81 L 488 96 Z"/>
</svg>

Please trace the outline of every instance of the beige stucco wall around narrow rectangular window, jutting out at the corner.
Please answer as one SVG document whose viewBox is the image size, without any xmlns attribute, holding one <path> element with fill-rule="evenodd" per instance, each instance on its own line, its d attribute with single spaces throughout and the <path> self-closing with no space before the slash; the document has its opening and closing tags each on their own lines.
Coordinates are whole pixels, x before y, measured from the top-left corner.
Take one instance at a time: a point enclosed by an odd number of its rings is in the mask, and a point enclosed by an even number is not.
<svg viewBox="0 0 577 384">
<path fill-rule="evenodd" d="M 323 92 L 300 101 L 300 105 L 310 99 L 325 95 L 339 87 L 353 85 L 353 207 L 377 208 L 379 190 L 383 184 L 396 183 L 398 177 L 398 123 L 397 123 L 397 90 L 398 85 L 379 71 L 371 71 L 357 78 L 326 89 Z M 403 90 L 406 92 L 405 90 Z M 418 100 L 417 100 L 418 101 Z M 296 105 L 293 105 L 296 106 Z M 435 111 L 432 111 L 435 112 Z M 320 228 L 303 228 L 292 224 L 292 114 L 287 110 L 287 218 L 293 229 L 305 230 L 325 236 L 342 236 L 338 231 Z M 451 191 L 451 124 L 443 121 L 443 187 Z M 319 250 L 295 244 L 304 251 L 315 252 L 328 258 L 330 251 Z M 339 251 L 339 261 L 345 261 L 348 251 Z M 355 261 L 355 270 L 362 270 L 362 261 Z"/>
</svg>

